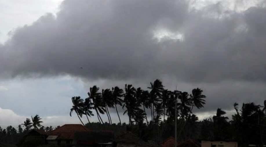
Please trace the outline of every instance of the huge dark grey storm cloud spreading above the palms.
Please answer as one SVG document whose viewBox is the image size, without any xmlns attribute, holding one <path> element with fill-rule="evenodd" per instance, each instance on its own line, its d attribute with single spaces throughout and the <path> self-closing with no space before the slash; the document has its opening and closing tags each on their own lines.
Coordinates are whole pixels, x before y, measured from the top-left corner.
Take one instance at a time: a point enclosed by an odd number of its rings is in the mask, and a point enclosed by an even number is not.
<svg viewBox="0 0 266 147">
<path fill-rule="evenodd" d="M 0 46 L 1 77 L 70 74 L 139 85 L 161 78 L 166 86 L 183 83 L 178 86 L 186 91 L 203 88 L 206 111 L 264 99 L 265 8 L 236 12 L 217 3 L 189 10 L 187 1 L 85 0 L 67 0 L 60 8 L 56 17 L 46 14 L 17 28 Z M 183 39 L 158 42 L 158 30 Z"/>
</svg>

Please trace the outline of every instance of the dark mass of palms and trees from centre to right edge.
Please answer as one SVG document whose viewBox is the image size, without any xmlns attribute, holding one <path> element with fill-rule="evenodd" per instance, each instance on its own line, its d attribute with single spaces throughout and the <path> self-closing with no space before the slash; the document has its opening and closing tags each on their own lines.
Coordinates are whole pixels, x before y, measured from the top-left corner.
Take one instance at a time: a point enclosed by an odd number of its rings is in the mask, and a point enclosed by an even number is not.
<svg viewBox="0 0 266 147">
<path fill-rule="evenodd" d="M 265 106 L 245 103 L 239 109 L 234 104 L 236 114 L 229 120 L 225 111 L 217 109 L 215 116 L 203 121 L 193 113 L 205 105 L 206 96 L 203 90 L 192 89 L 191 93 L 170 91 L 164 88 L 160 80 L 150 83 L 149 90 L 132 85 L 125 85 L 124 89 L 112 87 L 102 89 L 96 85 L 90 88 L 88 98 L 84 100 L 72 97 L 72 112 L 76 112 L 82 124 L 81 117 L 86 116 L 86 126 L 91 130 L 131 131 L 141 139 L 161 142 L 174 136 L 175 101 L 177 100 L 177 136 L 179 141 L 187 139 L 234 140 L 239 146 L 248 144 L 263 145 L 266 142 Z M 128 122 L 121 124 L 117 107 L 122 107 Z M 117 112 L 118 124 L 112 123 L 110 109 Z M 95 110 L 96 114 L 93 114 Z M 98 123 L 91 123 L 89 118 L 96 115 Z M 106 115 L 108 122 L 104 123 L 102 116 Z"/>
</svg>

